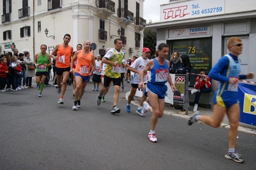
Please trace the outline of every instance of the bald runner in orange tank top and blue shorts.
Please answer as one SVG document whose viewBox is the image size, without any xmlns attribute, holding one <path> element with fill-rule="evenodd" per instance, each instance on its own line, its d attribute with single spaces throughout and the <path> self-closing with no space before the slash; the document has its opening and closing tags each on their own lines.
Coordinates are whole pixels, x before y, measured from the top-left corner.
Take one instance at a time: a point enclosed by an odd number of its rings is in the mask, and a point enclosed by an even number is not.
<svg viewBox="0 0 256 170">
<path fill-rule="evenodd" d="M 76 79 L 76 89 L 74 89 L 74 104 L 72 109 L 76 111 L 81 107 L 81 97 L 83 91 L 90 81 L 90 75 L 95 69 L 95 56 L 90 52 L 90 42 L 87 40 L 83 43 L 83 50 L 78 50 L 71 60 L 71 68 L 73 68 L 73 61 L 76 59 L 76 70 L 74 78 Z M 70 70 L 73 72 L 73 69 Z"/>
</svg>

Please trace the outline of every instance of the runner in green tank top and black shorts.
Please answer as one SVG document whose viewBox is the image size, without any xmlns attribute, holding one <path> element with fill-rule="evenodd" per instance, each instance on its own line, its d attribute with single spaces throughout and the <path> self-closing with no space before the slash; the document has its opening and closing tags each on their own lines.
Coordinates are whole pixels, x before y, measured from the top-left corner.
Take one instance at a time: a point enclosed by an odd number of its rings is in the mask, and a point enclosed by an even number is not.
<svg viewBox="0 0 256 170">
<path fill-rule="evenodd" d="M 35 54 L 34 64 L 36 67 L 35 82 L 39 86 L 38 97 L 42 97 L 42 91 L 44 89 L 44 81 L 48 73 L 48 68 L 51 66 L 51 55 L 47 54 L 47 46 L 42 44 L 40 46 L 41 52 Z"/>
</svg>

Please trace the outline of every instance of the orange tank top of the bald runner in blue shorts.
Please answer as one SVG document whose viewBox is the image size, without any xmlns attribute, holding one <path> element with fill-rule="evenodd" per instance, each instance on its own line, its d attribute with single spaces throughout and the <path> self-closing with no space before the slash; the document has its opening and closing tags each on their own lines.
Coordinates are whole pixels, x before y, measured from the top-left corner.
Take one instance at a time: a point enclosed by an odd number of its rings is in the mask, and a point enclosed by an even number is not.
<svg viewBox="0 0 256 170">
<path fill-rule="evenodd" d="M 76 73 L 80 75 L 88 76 L 90 75 L 90 68 L 92 65 L 92 52 L 87 55 L 83 54 L 83 50 L 80 50 L 78 56 L 76 57 Z"/>
</svg>

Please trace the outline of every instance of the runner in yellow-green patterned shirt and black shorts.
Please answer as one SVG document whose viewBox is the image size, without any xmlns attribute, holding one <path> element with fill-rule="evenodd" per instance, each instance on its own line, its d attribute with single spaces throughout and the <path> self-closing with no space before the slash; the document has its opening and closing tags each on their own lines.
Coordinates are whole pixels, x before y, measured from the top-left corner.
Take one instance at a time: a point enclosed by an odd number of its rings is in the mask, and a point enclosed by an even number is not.
<svg viewBox="0 0 256 170">
<path fill-rule="evenodd" d="M 97 105 L 101 104 L 101 97 L 108 88 L 110 82 L 114 84 L 114 98 L 113 98 L 113 108 L 111 113 L 119 113 L 120 109 L 117 107 L 117 102 L 119 99 L 119 92 L 121 86 L 121 65 L 124 53 L 121 51 L 123 42 L 120 38 L 114 40 L 115 48 L 108 50 L 107 54 L 102 59 L 103 63 L 106 63 L 106 70 L 104 74 L 104 86 L 101 86 L 99 91 L 99 96 L 97 98 Z"/>
</svg>

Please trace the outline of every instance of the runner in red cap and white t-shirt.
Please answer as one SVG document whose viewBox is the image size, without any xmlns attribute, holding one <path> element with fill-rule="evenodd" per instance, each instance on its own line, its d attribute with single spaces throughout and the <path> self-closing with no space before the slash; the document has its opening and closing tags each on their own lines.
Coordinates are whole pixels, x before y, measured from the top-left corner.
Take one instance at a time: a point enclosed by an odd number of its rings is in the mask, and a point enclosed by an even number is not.
<svg viewBox="0 0 256 170">
<path fill-rule="evenodd" d="M 133 97 L 135 96 L 135 93 L 137 91 L 138 85 L 141 82 L 140 80 L 140 75 L 139 72 L 141 72 L 141 70 L 143 70 L 143 68 L 146 66 L 146 64 L 148 63 L 149 59 L 148 56 L 151 53 L 150 49 L 148 47 L 144 47 L 142 49 L 142 56 L 138 59 L 136 59 L 131 66 L 129 66 L 129 70 L 131 72 L 134 72 L 133 75 L 133 79 L 131 80 L 131 91 L 130 91 L 130 95 L 128 96 L 128 102 L 126 105 L 126 112 L 130 112 L 130 104 L 133 100 Z M 146 82 L 148 82 L 148 75 L 147 72 L 145 73 L 144 76 L 144 84 L 146 84 Z M 141 91 L 144 91 L 144 86 L 142 87 Z M 141 116 L 145 116 L 146 112 L 141 112 L 141 109 L 143 107 L 143 102 L 146 101 L 147 97 L 145 95 L 142 95 L 141 97 L 141 102 L 140 105 L 137 109 L 137 113 L 139 113 Z"/>
</svg>

